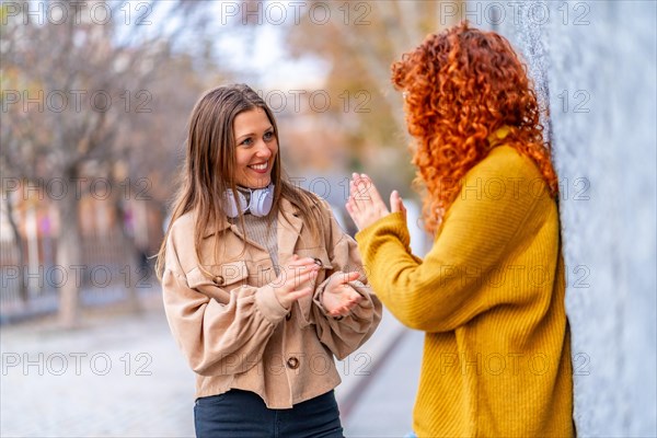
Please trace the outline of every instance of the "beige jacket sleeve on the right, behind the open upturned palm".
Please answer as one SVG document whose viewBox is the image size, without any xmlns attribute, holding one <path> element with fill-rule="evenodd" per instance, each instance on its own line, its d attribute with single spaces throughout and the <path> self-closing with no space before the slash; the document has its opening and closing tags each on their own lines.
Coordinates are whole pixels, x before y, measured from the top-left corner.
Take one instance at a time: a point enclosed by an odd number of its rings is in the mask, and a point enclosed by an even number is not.
<svg viewBox="0 0 657 438">
<path fill-rule="evenodd" d="M 326 250 L 331 267 L 324 281 L 315 289 L 311 312 L 320 341 L 342 360 L 372 335 L 381 321 L 382 306 L 367 283 L 356 241 L 342 231 L 327 205 L 324 205 L 324 209 L 330 220 Z M 323 308 L 322 295 L 332 276 L 349 272 L 361 273 L 360 278 L 351 281 L 350 286 L 362 296 L 362 300 L 349 314 L 334 318 Z"/>
</svg>

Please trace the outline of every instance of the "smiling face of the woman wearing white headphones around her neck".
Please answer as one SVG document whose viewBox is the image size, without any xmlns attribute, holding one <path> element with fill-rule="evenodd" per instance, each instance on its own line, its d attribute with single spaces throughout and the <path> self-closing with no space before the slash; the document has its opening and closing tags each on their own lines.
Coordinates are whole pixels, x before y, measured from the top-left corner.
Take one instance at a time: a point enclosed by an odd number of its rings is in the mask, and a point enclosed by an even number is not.
<svg viewBox="0 0 657 438">
<path fill-rule="evenodd" d="M 249 188 L 263 188 L 272 182 L 272 168 L 278 153 L 274 126 L 262 108 L 235 116 L 235 183 Z"/>
</svg>

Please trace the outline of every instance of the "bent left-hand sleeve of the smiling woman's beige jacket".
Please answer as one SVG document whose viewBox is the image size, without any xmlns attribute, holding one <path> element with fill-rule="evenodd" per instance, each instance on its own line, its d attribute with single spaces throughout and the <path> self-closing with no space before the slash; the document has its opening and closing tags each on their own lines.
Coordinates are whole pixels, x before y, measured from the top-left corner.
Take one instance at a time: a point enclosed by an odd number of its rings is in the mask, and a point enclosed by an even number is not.
<svg viewBox="0 0 657 438">
<path fill-rule="evenodd" d="M 189 278 L 195 277 L 204 278 L 200 273 L 183 274 L 171 239 L 162 277 L 164 309 L 192 369 L 203 376 L 220 376 L 254 367 L 287 310 L 270 287 L 226 290 L 209 279 L 193 281 L 191 287 Z"/>
</svg>

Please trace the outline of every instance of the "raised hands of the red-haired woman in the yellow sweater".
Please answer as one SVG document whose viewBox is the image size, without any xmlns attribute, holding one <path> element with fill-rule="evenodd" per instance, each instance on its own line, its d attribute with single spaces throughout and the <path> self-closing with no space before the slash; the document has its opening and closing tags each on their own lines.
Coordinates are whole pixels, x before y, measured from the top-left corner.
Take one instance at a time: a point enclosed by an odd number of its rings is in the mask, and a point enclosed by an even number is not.
<svg viewBox="0 0 657 438">
<path fill-rule="evenodd" d="M 346 204 L 347 212 L 359 230 L 367 228 L 377 220 L 390 215 L 385 203 L 381 199 L 379 191 L 372 180 L 365 173 L 351 175 L 349 183 L 349 199 Z M 406 208 L 397 191 L 390 194 L 390 209 L 392 212 L 402 211 L 406 216 Z"/>
</svg>

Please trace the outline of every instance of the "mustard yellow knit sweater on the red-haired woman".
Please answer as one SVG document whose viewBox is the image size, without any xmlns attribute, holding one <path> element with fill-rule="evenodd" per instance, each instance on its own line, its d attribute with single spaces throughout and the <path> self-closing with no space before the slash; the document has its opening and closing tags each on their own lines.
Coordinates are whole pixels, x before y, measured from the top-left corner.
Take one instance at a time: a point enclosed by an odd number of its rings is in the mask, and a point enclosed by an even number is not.
<svg viewBox="0 0 657 438">
<path fill-rule="evenodd" d="M 424 261 L 401 214 L 356 240 L 381 301 L 426 332 L 419 437 L 574 436 L 558 214 L 529 159 L 475 165 Z"/>
</svg>

